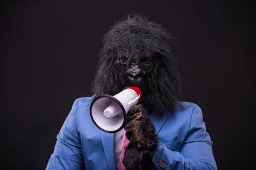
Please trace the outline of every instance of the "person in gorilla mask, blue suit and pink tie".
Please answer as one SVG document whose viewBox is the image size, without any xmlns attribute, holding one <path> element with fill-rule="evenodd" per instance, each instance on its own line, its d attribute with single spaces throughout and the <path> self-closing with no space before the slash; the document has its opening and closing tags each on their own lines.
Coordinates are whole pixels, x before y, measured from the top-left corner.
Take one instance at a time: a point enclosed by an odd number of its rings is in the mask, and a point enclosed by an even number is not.
<svg viewBox="0 0 256 170">
<path fill-rule="evenodd" d="M 137 14 L 113 25 L 100 50 L 95 95 L 74 102 L 46 169 L 217 169 L 202 110 L 181 101 L 174 43 L 161 25 Z M 127 113 L 125 129 L 100 131 L 90 117 L 93 99 L 127 86 L 143 97 Z M 129 144 L 121 158 L 123 137 Z"/>
</svg>

